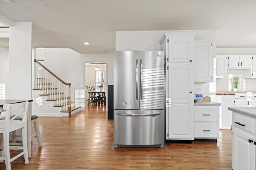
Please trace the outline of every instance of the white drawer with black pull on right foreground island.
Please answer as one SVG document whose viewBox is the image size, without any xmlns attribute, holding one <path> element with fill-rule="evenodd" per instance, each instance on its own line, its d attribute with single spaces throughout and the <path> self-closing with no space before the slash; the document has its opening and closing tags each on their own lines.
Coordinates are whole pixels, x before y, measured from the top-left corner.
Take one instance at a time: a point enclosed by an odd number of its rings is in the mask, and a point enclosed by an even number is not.
<svg viewBox="0 0 256 170">
<path fill-rule="evenodd" d="M 248 119 L 245 115 L 233 112 L 233 126 L 239 127 L 240 129 L 255 134 L 255 122 L 256 121 L 254 119 Z"/>
</svg>

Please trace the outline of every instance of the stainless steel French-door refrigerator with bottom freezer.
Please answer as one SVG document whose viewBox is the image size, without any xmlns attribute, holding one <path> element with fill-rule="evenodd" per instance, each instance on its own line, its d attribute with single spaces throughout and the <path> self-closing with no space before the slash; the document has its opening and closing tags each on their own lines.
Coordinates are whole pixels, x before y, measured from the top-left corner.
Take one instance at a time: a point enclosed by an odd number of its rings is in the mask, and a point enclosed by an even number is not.
<svg viewBox="0 0 256 170">
<path fill-rule="evenodd" d="M 114 148 L 164 148 L 163 51 L 114 51 Z"/>
</svg>

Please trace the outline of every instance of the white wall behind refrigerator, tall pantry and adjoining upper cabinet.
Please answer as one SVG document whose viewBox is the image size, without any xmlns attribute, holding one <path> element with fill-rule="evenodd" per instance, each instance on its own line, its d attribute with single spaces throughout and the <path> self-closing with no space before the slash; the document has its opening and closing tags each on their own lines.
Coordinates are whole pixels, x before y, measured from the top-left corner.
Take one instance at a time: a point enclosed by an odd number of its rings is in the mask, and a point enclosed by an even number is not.
<svg viewBox="0 0 256 170">
<path fill-rule="evenodd" d="M 165 30 L 165 31 L 116 31 L 116 51 L 160 51 L 159 41 L 164 33 L 194 32 L 195 40 L 212 40 L 213 55 L 216 55 L 216 30 Z M 209 83 L 195 83 L 204 96 L 209 96 Z"/>
</svg>

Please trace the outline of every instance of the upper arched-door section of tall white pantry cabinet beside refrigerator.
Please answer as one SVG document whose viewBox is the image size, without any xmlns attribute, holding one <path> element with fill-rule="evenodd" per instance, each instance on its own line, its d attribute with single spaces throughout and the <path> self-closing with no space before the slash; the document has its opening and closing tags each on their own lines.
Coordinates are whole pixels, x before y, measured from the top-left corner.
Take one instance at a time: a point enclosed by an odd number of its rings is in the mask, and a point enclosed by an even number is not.
<svg viewBox="0 0 256 170">
<path fill-rule="evenodd" d="M 166 49 L 168 63 L 192 63 L 195 33 L 164 33 L 161 49 Z"/>
</svg>

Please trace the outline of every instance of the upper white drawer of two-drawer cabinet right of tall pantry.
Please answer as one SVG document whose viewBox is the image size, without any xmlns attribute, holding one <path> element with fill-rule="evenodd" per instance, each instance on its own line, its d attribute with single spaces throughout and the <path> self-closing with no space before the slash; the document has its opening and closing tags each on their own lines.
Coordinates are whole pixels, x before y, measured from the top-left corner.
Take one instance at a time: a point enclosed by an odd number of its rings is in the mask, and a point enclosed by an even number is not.
<svg viewBox="0 0 256 170">
<path fill-rule="evenodd" d="M 218 122 L 219 107 L 194 107 L 194 121 Z"/>
</svg>

